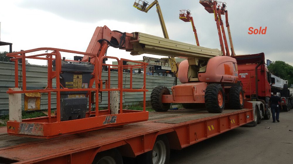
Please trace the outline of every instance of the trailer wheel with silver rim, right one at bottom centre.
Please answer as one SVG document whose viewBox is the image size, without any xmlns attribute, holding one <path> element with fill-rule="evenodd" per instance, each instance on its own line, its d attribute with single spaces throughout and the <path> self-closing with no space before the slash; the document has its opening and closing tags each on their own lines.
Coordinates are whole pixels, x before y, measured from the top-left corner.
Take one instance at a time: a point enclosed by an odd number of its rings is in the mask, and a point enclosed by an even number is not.
<svg viewBox="0 0 293 164">
<path fill-rule="evenodd" d="M 137 156 L 140 164 L 166 164 L 169 163 L 170 145 L 168 138 L 164 135 L 158 136 L 153 150 Z"/>
</svg>

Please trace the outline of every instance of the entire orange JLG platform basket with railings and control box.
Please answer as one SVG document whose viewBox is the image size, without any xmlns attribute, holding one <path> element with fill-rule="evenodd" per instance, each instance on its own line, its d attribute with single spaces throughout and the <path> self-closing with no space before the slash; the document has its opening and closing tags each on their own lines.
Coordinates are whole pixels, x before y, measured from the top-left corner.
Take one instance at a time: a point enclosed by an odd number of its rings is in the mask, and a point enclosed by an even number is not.
<svg viewBox="0 0 293 164">
<path fill-rule="evenodd" d="M 40 50 L 52 50 L 51 53 L 43 53 L 38 55 L 26 55 L 27 53 L 35 53 Z M 74 60 L 61 60 L 60 52 L 88 55 L 94 58 L 94 62 L 79 62 L 71 64 Z M 58 48 L 36 48 L 16 53 L 7 54 L 12 61 L 15 62 L 15 79 L 18 78 L 18 60 L 22 60 L 22 90 L 16 91 L 10 89 L 7 91 L 10 95 L 20 95 L 24 93 L 47 93 L 48 94 L 48 116 L 39 118 L 23 119 L 22 121 L 11 120 L 7 122 L 7 132 L 9 135 L 34 137 L 34 138 L 54 138 L 61 135 L 81 133 L 90 130 L 96 130 L 106 127 L 117 127 L 127 123 L 134 123 L 148 120 L 148 111 L 145 110 L 146 103 L 146 75 L 144 74 L 141 89 L 132 88 L 132 70 L 146 69 L 147 63 L 137 62 L 127 59 L 119 60 L 117 57 L 103 56 L 98 58 L 94 53 L 83 53 L 72 50 L 64 50 Z M 43 57 L 46 56 L 46 57 Z M 55 57 L 55 58 L 53 58 Z M 28 90 L 26 85 L 25 59 L 39 59 L 48 62 L 48 83 L 45 89 Z M 105 64 L 103 60 L 111 58 L 117 60 L 117 65 Z M 122 63 L 134 62 L 137 65 L 123 65 Z M 67 63 L 68 62 L 68 63 Z M 81 65 L 79 65 L 81 63 Z M 84 64 L 84 65 L 82 65 Z M 78 66 L 79 65 L 79 66 Z M 85 68 L 83 70 L 76 69 Z M 108 67 L 108 79 L 102 79 L 102 68 Z M 90 69 L 88 69 L 90 68 Z M 118 84 L 113 88 L 110 85 L 111 70 L 118 71 Z M 130 69 L 130 85 L 126 88 L 123 84 L 124 69 Z M 90 73 L 89 73 L 90 72 Z M 124 75 L 125 76 L 125 75 Z M 60 77 L 60 78 L 59 78 Z M 53 79 L 56 79 L 56 87 L 53 86 Z M 76 80 L 76 86 L 74 85 Z M 72 81 L 72 82 L 71 82 Z M 95 87 L 93 87 L 95 83 Z M 64 86 L 65 84 L 65 86 Z M 128 85 L 127 85 L 128 86 Z M 15 81 L 15 88 L 19 87 L 18 80 Z M 115 113 L 110 110 L 110 93 L 116 91 L 120 93 L 117 105 L 120 100 L 119 110 Z M 99 92 L 108 93 L 108 109 L 99 110 L 99 96 L 95 97 L 96 107 L 92 108 L 91 94 L 96 95 Z M 143 92 L 143 111 L 123 109 L 123 92 Z M 57 115 L 51 116 L 51 93 L 56 93 L 57 97 Z M 113 96 L 112 96 L 113 99 Z M 81 101 L 82 103 L 77 103 Z M 68 103 L 64 103 L 68 102 Z M 72 103 L 76 103 L 72 105 Z M 88 106 L 88 109 L 87 109 Z M 13 110 L 10 108 L 9 110 Z"/>
</svg>

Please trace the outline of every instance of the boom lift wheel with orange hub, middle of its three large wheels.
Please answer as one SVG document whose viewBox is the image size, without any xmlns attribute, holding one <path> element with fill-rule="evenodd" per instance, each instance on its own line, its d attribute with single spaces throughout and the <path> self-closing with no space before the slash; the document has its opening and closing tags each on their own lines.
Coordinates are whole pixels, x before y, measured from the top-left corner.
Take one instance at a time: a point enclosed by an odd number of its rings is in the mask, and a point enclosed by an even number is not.
<svg viewBox="0 0 293 164">
<path fill-rule="evenodd" d="M 222 113 L 225 106 L 225 96 L 220 84 L 210 84 L 205 90 L 205 107 L 210 113 Z"/>
</svg>

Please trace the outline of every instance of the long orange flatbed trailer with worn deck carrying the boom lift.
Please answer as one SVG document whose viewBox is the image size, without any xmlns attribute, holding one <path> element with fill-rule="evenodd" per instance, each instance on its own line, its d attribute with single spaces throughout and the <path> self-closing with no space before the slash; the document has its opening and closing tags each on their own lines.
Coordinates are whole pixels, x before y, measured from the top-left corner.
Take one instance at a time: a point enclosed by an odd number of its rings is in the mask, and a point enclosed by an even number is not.
<svg viewBox="0 0 293 164">
<path fill-rule="evenodd" d="M 149 158 L 144 154 L 153 154 L 160 137 L 167 138 L 166 149 L 180 150 L 255 121 L 253 103 L 245 102 L 244 108 L 225 109 L 222 113 L 208 113 L 206 109 L 149 112 L 148 121 L 54 139 L 10 136 L 7 128 L 1 127 L 0 163 L 97 163 L 97 156 L 107 156 L 114 149 L 123 159 Z"/>
</svg>

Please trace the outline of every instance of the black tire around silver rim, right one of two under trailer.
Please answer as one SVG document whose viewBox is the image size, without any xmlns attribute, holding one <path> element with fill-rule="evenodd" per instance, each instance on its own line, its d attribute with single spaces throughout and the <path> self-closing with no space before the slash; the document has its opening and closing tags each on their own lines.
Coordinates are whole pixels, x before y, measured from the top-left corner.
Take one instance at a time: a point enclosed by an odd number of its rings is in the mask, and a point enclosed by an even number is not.
<svg viewBox="0 0 293 164">
<path fill-rule="evenodd" d="M 170 145 L 168 142 L 168 138 L 165 135 L 159 135 L 156 139 L 156 142 L 154 146 L 157 144 L 157 142 L 162 141 L 165 144 L 166 147 L 166 159 L 165 162 L 162 164 L 167 164 L 169 163 L 169 158 L 170 158 Z M 162 143 L 161 142 L 161 143 Z M 153 150 L 148 151 L 146 153 L 143 153 L 139 156 L 137 156 L 137 163 L 139 164 L 161 164 L 161 163 L 153 163 Z"/>
</svg>

